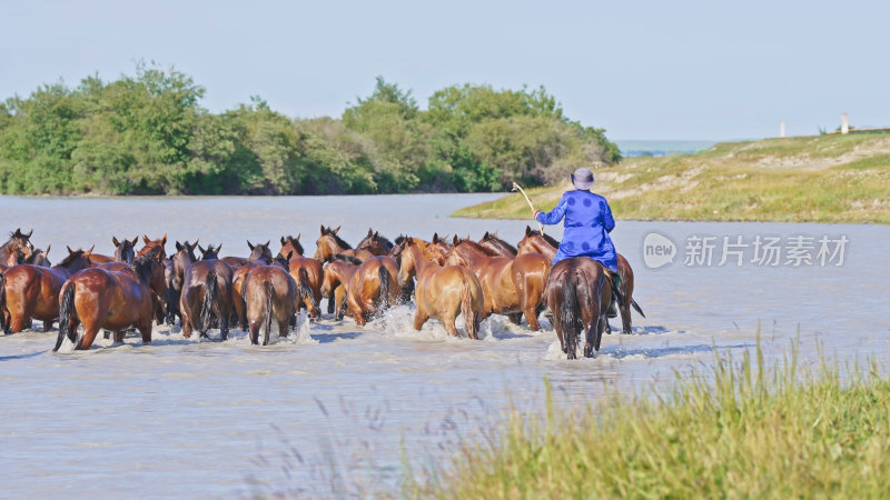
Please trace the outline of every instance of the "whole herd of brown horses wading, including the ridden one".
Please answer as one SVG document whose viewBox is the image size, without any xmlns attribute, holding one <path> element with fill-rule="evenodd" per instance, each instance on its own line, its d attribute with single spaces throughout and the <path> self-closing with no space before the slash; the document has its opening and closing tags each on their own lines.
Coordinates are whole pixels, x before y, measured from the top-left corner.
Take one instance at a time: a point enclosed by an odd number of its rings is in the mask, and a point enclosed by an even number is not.
<svg viewBox="0 0 890 500">
<path fill-rule="evenodd" d="M 263 330 L 265 346 L 273 322 L 286 337 L 301 309 L 320 320 L 319 303 L 327 298 L 329 314 L 336 320 L 349 316 L 358 326 L 413 300 L 415 329 L 435 318 L 457 336 L 459 314 L 472 339 L 490 314 L 504 314 L 516 324 L 524 317 L 531 330 L 540 330 L 537 318 L 550 308 L 570 359 L 576 357 L 582 332 L 585 357 L 611 332 L 611 276 L 583 257 L 553 266 L 558 242 L 531 228 L 517 247 L 496 232 L 478 241 L 434 234 L 429 241 L 399 236 L 393 242 L 369 229 L 354 248 L 338 232 L 339 227 L 322 226 L 313 257 L 304 256 L 299 234 L 281 237 L 277 254 L 271 241 L 248 241 L 250 253 L 243 258 L 220 258 L 221 246 L 204 248 L 197 241 L 176 241 L 176 251 L 168 254 L 167 234 L 156 240 L 144 236 L 139 250 L 138 237 L 113 237 L 113 256 L 67 248 L 68 254 L 51 266 L 50 248 L 36 249 L 33 230 L 18 229 L 0 247 L 0 326 L 8 334 L 30 328 L 34 319 L 44 331 L 59 321 L 53 351 L 66 338 L 75 349 L 89 349 L 100 330 L 120 342 L 135 329 L 149 342 L 155 322 L 175 324 L 177 318 L 187 338 L 195 331 L 207 337 L 217 328 L 226 340 L 237 324 L 254 344 Z M 633 270 L 621 254 L 619 272 L 622 331 L 630 333 L 631 307 L 643 311 L 633 300 Z"/>
</svg>

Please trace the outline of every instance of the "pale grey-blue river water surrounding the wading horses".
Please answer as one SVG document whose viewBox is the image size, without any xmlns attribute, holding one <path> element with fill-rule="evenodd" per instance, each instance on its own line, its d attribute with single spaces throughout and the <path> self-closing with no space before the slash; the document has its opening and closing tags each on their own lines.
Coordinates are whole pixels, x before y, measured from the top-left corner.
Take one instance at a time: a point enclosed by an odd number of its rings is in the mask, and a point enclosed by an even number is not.
<svg viewBox="0 0 890 500">
<path fill-rule="evenodd" d="M 6 230 L 33 227 L 41 248 L 96 243 L 109 253 L 112 236 L 168 233 L 170 242 L 200 239 L 221 243 L 224 254 L 247 254 L 245 240 L 301 233 L 312 254 L 320 224 L 343 226 L 352 243 L 368 226 L 390 239 L 498 230 L 518 241 L 526 221 L 447 218 L 491 198 L 0 198 L 0 208 Z M 841 268 L 679 262 L 650 270 L 641 250 L 653 230 L 681 246 L 690 234 L 844 233 L 850 248 Z M 547 228 L 557 238 L 558 231 Z M 304 321 L 286 339 L 273 334 L 268 347 L 250 346 L 238 330 L 214 342 L 157 327 L 149 346 L 128 336 L 122 344 L 100 339 L 88 352 L 55 354 L 56 328 L 7 336 L 0 338 L 4 493 L 392 492 L 403 453 L 423 469 L 466 437 L 496 428 L 510 404 L 540 408 L 545 377 L 560 404 L 595 399 L 606 388 L 664 391 L 674 370 L 710 366 L 713 348 L 750 349 L 759 324 L 770 359 L 800 331 L 804 361 L 818 357 L 817 338 L 829 356 L 887 360 L 890 298 L 880 244 L 888 237 L 889 228 L 874 226 L 620 221 L 613 238 L 634 267 L 634 297 L 649 319 L 635 316 L 632 336 L 605 336 L 590 360 L 565 360 L 544 316 L 542 332 L 490 318 L 482 340 L 469 341 L 448 337 L 437 321 L 415 332 L 412 307 L 362 329 L 348 319 Z"/>
</svg>

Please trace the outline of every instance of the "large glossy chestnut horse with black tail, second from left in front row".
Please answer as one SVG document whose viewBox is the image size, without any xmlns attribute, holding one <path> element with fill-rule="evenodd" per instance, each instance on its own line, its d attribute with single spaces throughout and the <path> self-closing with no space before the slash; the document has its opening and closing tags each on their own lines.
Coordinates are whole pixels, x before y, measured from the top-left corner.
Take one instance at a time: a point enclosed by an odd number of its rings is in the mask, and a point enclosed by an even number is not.
<svg viewBox="0 0 890 500">
<path fill-rule="evenodd" d="M 99 330 L 115 331 L 115 341 L 123 341 L 123 330 L 136 327 L 142 342 L 151 341 L 152 301 L 149 288 L 159 250 L 140 257 L 132 267 L 120 271 L 85 269 L 76 272 L 62 286 L 59 294 L 58 351 L 68 337 L 75 349 L 89 349 Z M 77 340 L 78 323 L 83 334 Z"/>
</svg>

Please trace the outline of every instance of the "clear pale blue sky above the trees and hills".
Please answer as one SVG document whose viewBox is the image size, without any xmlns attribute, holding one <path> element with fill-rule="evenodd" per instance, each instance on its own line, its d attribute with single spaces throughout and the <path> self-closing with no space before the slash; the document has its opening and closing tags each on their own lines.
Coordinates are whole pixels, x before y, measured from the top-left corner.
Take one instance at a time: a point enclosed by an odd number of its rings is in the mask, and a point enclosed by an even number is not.
<svg viewBox="0 0 890 500">
<path fill-rule="evenodd" d="M 890 127 L 890 1 L 0 2 L 0 99 L 62 78 L 192 76 L 221 111 L 259 94 L 338 117 L 378 74 L 422 107 L 453 83 L 543 84 L 611 139 Z"/>
</svg>

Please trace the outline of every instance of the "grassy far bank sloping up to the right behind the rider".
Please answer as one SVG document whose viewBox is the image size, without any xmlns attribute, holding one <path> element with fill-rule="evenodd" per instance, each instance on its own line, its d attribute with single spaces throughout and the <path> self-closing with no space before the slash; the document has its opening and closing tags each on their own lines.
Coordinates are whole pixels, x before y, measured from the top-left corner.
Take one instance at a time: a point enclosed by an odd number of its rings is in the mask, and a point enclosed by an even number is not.
<svg viewBox="0 0 890 500">
<path fill-rule="evenodd" d="M 890 134 L 721 143 L 695 154 L 634 158 L 595 171 L 619 219 L 890 223 Z M 568 184 L 530 190 L 552 209 Z M 454 217 L 525 219 L 518 194 Z"/>
</svg>

